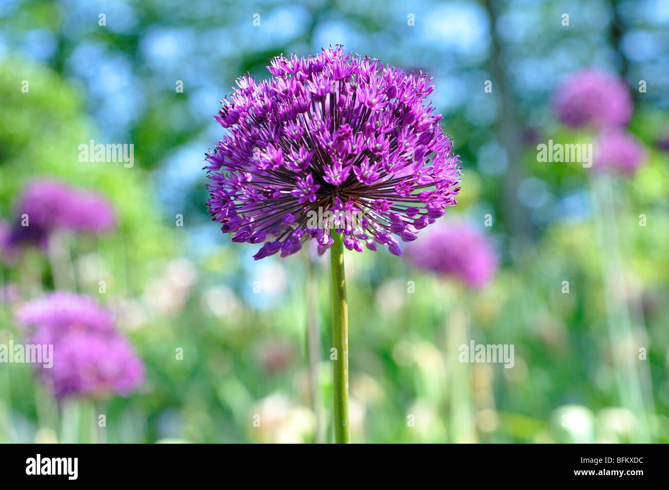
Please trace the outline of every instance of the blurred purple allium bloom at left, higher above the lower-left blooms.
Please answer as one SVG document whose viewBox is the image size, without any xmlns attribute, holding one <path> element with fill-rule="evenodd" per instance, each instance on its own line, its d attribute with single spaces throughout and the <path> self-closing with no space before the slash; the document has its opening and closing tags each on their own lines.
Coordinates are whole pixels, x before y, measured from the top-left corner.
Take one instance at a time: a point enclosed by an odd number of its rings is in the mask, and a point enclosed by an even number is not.
<svg viewBox="0 0 669 490">
<path fill-rule="evenodd" d="M 70 187 L 56 180 L 33 180 L 15 207 L 17 218 L 11 243 L 31 242 L 44 246 L 52 231 L 66 229 L 101 233 L 114 229 L 112 205 L 94 191 Z M 28 226 L 22 226 L 27 215 Z"/>
</svg>

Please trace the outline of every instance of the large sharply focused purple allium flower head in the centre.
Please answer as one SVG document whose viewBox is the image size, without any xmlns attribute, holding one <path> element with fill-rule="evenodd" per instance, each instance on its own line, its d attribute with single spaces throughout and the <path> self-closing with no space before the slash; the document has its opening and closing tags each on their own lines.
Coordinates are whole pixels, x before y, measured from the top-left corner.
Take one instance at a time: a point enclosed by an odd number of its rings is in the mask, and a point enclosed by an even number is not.
<svg viewBox="0 0 669 490">
<path fill-rule="evenodd" d="M 279 56 L 268 70 L 221 101 L 227 132 L 205 158 L 209 214 L 232 241 L 263 243 L 256 260 L 309 239 L 323 253 L 330 228 L 349 250 L 401 255 L 395 237 L 412 241 L 456 204 L 458 156 L 425 102 L 428 77 L 341 46 Z"/>
</svg>

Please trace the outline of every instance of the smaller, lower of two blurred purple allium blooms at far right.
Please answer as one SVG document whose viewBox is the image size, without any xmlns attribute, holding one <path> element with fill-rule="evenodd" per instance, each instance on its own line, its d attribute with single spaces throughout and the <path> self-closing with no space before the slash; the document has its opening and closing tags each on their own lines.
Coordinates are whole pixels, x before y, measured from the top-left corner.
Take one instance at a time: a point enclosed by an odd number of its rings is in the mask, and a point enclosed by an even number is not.
<svg viewBox="0 0 669 490">
<path fill-rule="evenodd" d="M 623 130 L 607 130 L 597 139 L 594 168 L 631 175 L 644 161 L 644 146 Z"/>
</svg>

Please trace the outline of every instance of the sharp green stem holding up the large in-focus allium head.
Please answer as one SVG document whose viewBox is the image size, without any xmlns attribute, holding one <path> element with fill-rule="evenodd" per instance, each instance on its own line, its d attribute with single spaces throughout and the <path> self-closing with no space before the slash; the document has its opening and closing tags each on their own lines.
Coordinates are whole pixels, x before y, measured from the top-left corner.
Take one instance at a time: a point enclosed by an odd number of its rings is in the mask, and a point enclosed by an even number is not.
<svg viewBox="0 0 669 490">
<path fill-rule="evenodd" d="M 332 345 L 334 358 L 334 442 L 351 442 L 349 424 L 349 312 L 346 303 L 346 277 L 344 274 L 343 235 L 332 233 L 330 247 L 332 267 Z"/>
</svg>

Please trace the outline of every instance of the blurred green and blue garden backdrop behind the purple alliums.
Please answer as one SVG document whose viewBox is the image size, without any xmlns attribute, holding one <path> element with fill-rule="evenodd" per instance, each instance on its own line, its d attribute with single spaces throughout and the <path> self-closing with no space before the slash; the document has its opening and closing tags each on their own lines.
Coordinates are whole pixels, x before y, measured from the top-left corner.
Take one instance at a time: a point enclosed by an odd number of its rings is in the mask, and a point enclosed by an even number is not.
<svg viewBox="0 0 669 490">
<path fill-rule="evenodd" d="M 332 440 L 328 255 L 254 262 L 207 218 L 202 159 L 237 76 L 337 43 L 434 77 L 464 174 L 444 219 L 479 227 L 500 261 L 468 289 L 347 252 L 353 441 L 669 441 L 668 27 L 663 0 L 1 0 L 0 218 L 41 176 L 110 199 L 116 229 L 68 241 L 70 287 L 114 312 L 146 374 L 130 396 L 59 402 L 31 366 L 0 364 L 0 441 L 63 441 L 73 418 L 88 441 L 98 414 L 109 442 Z M 549 139 L 592 141 L 551 110 L 585 67 L 626 80 L 644 145 L 608 182 L 610 213 L 592 169 L 537 161 Z M 134 144 L 134 166 L 80 162 L 90 140 Z M 1 265 L 0 343 L 24 340 L 15 312 L 58 287 L 50 258 Z M 514 367 L 458 363 L 468 340 L 513 344 Z"/>
</svg>

